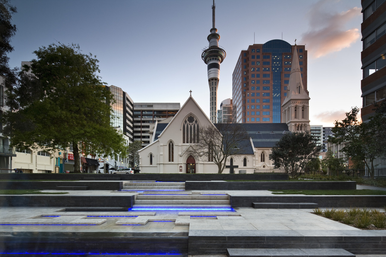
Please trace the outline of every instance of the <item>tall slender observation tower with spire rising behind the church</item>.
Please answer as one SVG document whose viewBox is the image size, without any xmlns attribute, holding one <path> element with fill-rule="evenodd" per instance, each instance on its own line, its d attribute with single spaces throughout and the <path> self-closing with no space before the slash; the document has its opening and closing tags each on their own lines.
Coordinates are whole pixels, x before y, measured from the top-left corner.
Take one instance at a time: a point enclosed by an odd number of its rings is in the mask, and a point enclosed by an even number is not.
<svg viewBox="0 0 386 257">
<path fill-rule="evenodd" d="M 209 99 L 210 99 L 210 121 L 216 123 L 216 112 L 217 112 L 217 88 L 218 81 L 220 78 L 220 63 L 225 59 L 225 50 L 218 47 L 218 41 L 220 35 L 217 34 L 215 27 L 215 1 L 213 0 L 212 5 L 212 29 L 208 36 L 209 47 L 204 48 L 201 54 L 201 58 L 205 64 L 208 65 L 208 82 L 209 82 Z"/>
</svg>

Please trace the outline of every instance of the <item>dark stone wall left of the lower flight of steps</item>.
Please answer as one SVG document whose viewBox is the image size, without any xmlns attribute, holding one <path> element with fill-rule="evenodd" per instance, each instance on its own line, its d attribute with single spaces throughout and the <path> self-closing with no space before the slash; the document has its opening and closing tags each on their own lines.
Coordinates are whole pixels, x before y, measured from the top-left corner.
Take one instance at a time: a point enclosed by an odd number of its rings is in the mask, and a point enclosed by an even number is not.
<svg viewBox="0 0 386 257">
<path fill-rule="evenodd" d="M 125 207 L 132 208 L 133 196 L 74 196 L 66 194 L 0 195 L 2 207 Z"/>
</svg>

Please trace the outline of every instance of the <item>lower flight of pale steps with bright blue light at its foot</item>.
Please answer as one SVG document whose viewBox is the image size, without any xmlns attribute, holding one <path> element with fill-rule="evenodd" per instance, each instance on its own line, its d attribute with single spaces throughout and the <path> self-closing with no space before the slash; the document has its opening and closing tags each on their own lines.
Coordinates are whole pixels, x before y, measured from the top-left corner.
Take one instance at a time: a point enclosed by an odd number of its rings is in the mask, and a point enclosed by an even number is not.
<svg viewBox="0 0 386 257">
<path fill-rule="evenodd" d="M 140 193 L 136 196 L 135 209 L 231 209 L 225 193 Z"/>
</svg>

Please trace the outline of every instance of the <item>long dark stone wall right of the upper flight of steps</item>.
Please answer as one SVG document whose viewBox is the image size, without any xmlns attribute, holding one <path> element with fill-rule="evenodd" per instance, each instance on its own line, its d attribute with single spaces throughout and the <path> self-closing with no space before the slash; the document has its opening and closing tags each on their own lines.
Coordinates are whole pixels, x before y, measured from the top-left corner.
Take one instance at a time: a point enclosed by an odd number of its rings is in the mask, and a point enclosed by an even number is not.
<svg viewBox="0 0 386 257">
<path fill-rule="evenodd" d="M 356 189 L 356 181 L 186 181 L 185 190 Z"/>
</svg>

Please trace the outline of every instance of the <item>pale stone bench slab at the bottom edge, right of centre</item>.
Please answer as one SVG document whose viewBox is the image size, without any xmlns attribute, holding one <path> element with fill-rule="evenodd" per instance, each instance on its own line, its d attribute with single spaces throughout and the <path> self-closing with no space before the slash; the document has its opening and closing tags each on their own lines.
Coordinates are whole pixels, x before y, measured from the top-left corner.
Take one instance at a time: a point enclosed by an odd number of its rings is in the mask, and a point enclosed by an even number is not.
<svg viewBox="0 0 386 257">
<path fill-rule="evenodd" d="M 355 257 L 344 249 L 227 249 L 229 257 Z"/>
</svg>

